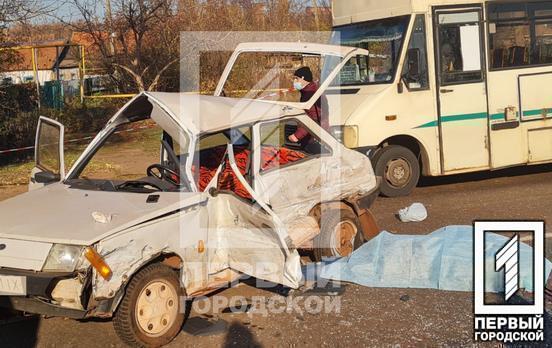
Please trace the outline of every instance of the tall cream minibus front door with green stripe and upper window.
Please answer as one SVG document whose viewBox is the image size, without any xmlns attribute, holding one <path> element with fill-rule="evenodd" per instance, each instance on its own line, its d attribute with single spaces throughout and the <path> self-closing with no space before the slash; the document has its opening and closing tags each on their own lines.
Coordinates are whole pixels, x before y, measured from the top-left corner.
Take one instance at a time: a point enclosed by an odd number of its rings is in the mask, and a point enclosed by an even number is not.
<svg viewBox="0 0 552 348">
<path fill-rule="evenodd" d="M 441 171 L 487 168 L 482 8 L 436 7 L 433 18 Z"/>
</svg>

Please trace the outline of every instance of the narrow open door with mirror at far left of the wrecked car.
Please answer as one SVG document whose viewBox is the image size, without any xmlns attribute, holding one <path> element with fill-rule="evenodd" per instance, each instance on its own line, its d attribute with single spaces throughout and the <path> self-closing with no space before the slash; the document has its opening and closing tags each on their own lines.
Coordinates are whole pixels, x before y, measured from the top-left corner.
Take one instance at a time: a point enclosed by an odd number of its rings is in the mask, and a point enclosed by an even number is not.
<svg viewBox="0 0 552 348">
<path fill-rule="evenodd" d="M 30 191 L 65 178 L 64 133 L 65 127 L 61 123 L 40 116 L 36 129 L 35 167 L 31 172 Z"/>
</svg>

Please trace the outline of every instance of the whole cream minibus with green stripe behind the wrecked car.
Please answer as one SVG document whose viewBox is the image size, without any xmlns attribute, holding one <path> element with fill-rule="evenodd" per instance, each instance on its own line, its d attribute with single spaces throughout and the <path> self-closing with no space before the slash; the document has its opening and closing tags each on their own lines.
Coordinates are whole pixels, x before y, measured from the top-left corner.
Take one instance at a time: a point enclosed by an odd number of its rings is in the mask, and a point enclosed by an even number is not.
<svg viewBox="0 0 552 348">
<path fill-rule="evenodd" d="M 552 161 L 552 1 L 332 5 L 334 41 L 370 54 L 327 91 L 331 131 L 370 156 L 384 195 Z"/>
</svg>

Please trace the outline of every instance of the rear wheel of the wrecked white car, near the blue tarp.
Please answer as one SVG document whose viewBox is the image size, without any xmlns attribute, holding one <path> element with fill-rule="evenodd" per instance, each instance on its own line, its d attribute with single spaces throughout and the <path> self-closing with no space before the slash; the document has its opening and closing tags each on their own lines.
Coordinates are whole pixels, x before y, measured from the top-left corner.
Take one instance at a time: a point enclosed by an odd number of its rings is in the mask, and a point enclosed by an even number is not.
<svg viewBox="0 0 552 348">
<path fill-rule="evenodd" d="M 323 211 L 320 220 L 320 234 L 314 238 L 316 262 L 349 256 L 366 241 L 358 216 L 352 209 Z"/>
</svg>

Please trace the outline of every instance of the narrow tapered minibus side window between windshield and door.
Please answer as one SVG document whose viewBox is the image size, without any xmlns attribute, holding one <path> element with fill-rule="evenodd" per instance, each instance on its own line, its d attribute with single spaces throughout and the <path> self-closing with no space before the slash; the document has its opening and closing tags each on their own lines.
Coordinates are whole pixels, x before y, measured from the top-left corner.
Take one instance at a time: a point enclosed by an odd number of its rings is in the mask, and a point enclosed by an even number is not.
<svg viewBox="0 0 552 348">
<path fill-rule="evenodd" d="M 429 89 L 426 29 L 423 14 L 416 15 L 403 65 L 402 79 L 410 91 Z"/>
</svg>

